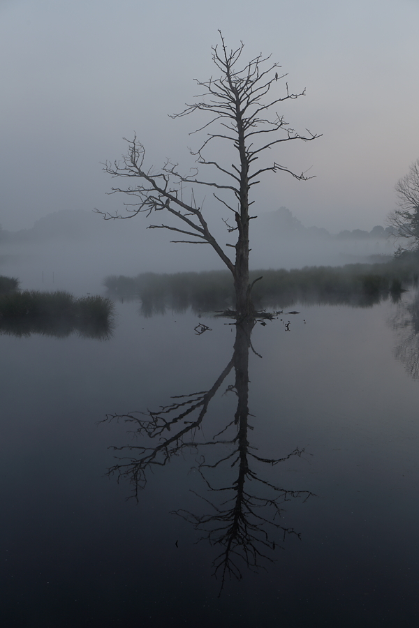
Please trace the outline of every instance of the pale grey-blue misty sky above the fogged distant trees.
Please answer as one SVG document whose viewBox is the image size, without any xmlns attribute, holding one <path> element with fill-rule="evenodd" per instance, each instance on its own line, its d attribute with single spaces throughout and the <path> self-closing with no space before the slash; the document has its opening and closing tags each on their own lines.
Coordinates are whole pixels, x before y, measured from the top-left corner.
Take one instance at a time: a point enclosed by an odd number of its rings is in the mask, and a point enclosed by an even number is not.
<svg viewBox="0 0 419 628">
<path fill-rule="evenodd" d="M 214 73 L 221 29 L 246 59 L 272 53 L 292 91 L 307 88 L 279 112 L 323 133 L 272 155 L 316 179 L 268 177 L 255 213 L 284 205 L 332 232 L 385 225 L 395 182 L 419 157 L 418 25 L 419 0 L 0 0 L 0 223 L 120 209 L 100 163 L 134 130 L 150 163 L 189 165 L 200 119 L 167 114 Z"/>
</svg>

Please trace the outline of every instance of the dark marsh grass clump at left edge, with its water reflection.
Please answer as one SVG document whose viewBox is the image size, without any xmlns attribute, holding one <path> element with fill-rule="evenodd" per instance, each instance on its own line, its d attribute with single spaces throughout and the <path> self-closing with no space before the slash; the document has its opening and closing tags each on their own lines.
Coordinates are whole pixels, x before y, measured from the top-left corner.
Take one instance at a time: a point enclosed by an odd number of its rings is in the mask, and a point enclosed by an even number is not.
<svg viewBox="0 0 419 628">
<path fill-rule="evenodd" d="M 109 338 L 115 306 L 104 297 L 77 299 L 69 292 L 24 290 L 0 297 L 0 333 L 64 338 Z"/>
</svg>

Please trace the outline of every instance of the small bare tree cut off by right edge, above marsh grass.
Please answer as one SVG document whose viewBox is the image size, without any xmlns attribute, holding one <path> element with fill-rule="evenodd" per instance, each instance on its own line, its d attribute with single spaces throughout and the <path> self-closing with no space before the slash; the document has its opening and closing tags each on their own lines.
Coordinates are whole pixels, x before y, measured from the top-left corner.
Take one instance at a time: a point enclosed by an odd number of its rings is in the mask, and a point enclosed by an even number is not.
<svg viewBox="0 0 419 628">
<path fill-rule="evenodd" d="M 397 209 L 388 214 L 388 223 L 394 235 L 406 240 L 399 252 L 418 251 L 419 248 L 419 159 L 411 164 L 409 172 L 395 185 Z"/>
</svg>

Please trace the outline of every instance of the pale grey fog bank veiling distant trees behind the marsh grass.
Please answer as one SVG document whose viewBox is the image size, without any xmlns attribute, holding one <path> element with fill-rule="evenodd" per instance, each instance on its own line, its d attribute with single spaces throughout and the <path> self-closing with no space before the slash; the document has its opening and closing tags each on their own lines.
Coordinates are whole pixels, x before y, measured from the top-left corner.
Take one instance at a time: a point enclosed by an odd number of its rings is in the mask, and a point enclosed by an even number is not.
<svg viewBox="0 0 419 628">
<path fill-rule="evenodd" d="M 148 230 L 150 222 L 143 215 L 103 220 L 93 211 L 54 212 L 29 230 L 3 230 L 0 274 L 20 278 L 22 288 L 86 294 L 100 291 L 108 275 L 225 268 L 209 245 L 171 244 L 170 232 Z M 212 223 L 221 244 L 234 242 L 221 214 Z M 281 207 L 251 221 L 251 248 L 252 269 L 291 269 L 385 260 L 395 243 L 383 227 L 373 234 L 307 228 Z"/>
</svg>

